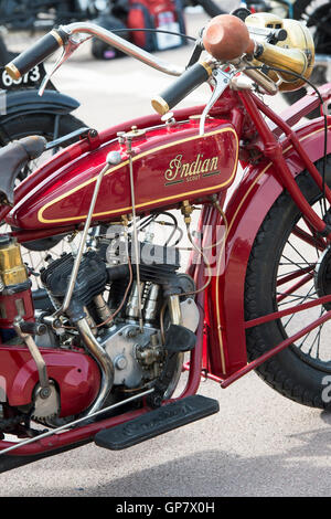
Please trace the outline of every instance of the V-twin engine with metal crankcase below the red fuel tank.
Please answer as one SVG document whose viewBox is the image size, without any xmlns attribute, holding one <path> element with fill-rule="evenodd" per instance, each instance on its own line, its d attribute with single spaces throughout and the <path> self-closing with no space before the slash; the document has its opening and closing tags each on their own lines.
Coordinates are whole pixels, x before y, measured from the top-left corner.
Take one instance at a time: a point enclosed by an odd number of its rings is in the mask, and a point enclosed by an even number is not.
<svg viewBox="0 0 331 519">
<path fill-rule="evenodd" d="M 173 262 L 167 263 L 168 247 L 152 247 L 154 261 L 139 264 L 139 286 L 137 265 L 109 265 L 102 247 L 86 252 L 66 310 L 68 325 L 60 335 L 62 347 L 82 341 L 102 371 L 107 358 L 113 389 L 119 391 L 135 391 L 160 378 L 170 351 L 177 357 L 172 378 L 178 377 L 183 351 L 195 343 L 199 310 L 194 297 L 183 295 L 194 293 L 194 283 L 190 276 L 178 272 L 177 250 L 172 251 Z M 73 264 L 73 254 L 63 254 L 41 272 L 41 280 L 55 308 L 63 303 Z"/>
</svg>

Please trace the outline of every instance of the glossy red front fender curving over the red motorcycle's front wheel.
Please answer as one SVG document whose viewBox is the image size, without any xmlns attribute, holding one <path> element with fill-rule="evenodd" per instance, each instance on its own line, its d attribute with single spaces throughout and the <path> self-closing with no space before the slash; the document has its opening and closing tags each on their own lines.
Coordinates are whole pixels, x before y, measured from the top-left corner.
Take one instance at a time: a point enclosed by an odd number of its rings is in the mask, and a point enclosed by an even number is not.
<svg viewBox="0 0 331 519">
<path fill-rule="evenodd" d="M 331 128 L 331 118 L 328 128 Z M 297 130 L 300 142 L 313 162 L 323 157 L 323 118 L 319 118 Z M 296 177 L 305 170 L 302 159 L 287 140 L 282 147 L 287 165 Z M 330 138 L 328 152 L 331 152 Z M 228 229 L 224 257 L 218 277 L 207 289 L 206 299 L 211 372 L 222 379 L 247 363 L 244 326 L 247 263 L 258 230 L 282 189 L 273 162 L 264 160 L 256 167 L 246 168 L 243 180 L 226 206 Z"/>
</svg>

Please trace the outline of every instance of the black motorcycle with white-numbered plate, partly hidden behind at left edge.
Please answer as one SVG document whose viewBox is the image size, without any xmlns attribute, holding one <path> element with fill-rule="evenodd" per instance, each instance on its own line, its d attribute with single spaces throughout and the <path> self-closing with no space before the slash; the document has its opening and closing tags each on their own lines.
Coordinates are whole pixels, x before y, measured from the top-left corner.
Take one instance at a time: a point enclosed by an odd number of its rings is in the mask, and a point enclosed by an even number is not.
<svg viewBox="0 0 331 519">
<path fill-rule="evenodd" d="M 35 65 L 19 80 L 10 77 L 4 65 L 17 55 L 8 50 L 4 40 L 0 38 L 0 147 L 29 136 L 42 136 L 47 142 L 40 158 L 25 162 L 20 169 L 15 180 L 18 184 L 55 151 L 77 141 L 90 129 L 73 115 L 79 103 L 58 92 L 51 81 L 43 96 L 38 94 L 46 77 L 43 63 Z M 8 225 L 0 226 L 1 233 L 7 230 Z M 44 251 L 56 244 L 57 241 L 52 239 L 43 242 L 31 241 L 22 248 L 23 258 L 35 269 L 36 265 L 44 263 Z M 45 294 L 38 279 L 34 285 L 35 305 L 41 306 Z"/>
</svg>

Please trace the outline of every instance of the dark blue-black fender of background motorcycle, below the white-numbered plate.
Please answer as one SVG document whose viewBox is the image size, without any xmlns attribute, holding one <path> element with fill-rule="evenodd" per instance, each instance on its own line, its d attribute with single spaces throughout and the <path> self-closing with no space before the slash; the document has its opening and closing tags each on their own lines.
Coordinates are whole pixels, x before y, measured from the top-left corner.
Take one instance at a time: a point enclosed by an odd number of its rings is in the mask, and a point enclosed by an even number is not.
<svg viewBox="0 0 331 519">
<path fill-rule="evenodd" d="M 18 115 L 29 113 L 70 114 L 78 108 L 79 103 L 57 91 L 45 91 L 43 96 L 38 95 L 34 88 L 18 89 L 6 95 L 6 114 L 0 121 L 6 123 Z"/>
</svg>

